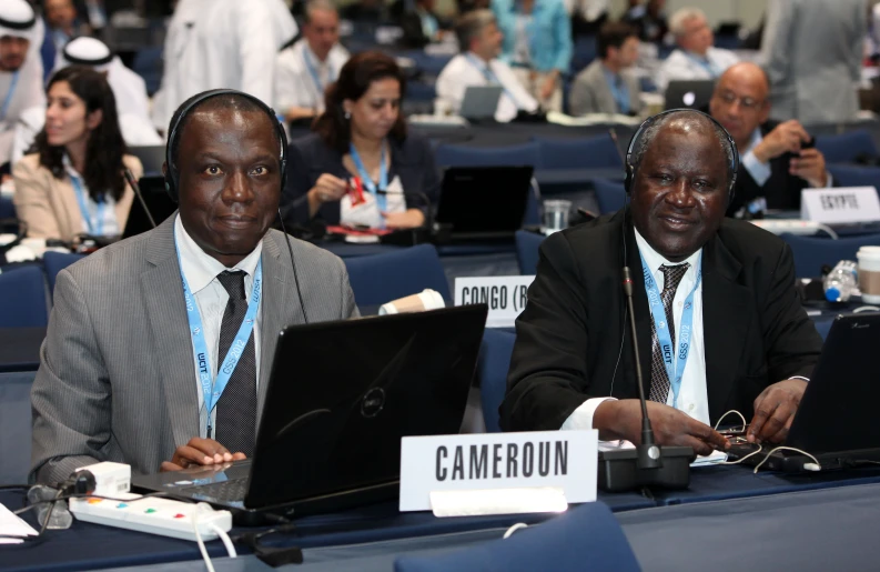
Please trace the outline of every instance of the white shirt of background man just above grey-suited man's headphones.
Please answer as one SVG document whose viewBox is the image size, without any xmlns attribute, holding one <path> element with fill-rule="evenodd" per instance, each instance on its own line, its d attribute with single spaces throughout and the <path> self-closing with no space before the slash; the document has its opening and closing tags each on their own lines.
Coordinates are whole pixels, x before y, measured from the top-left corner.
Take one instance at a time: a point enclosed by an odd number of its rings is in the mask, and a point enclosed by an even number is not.
<svg viewBox="0 0 880 572">
<path fill-rule="evenodd" d="M 315 84 L 305 58 L 314 66 L 321 86 Z M 324 90 L 336 81 L 348 58 L 348 51 L 337 43 L 321 61 L 305 38 L 282 50 L 275 62 L 275 111 L 284 113 L 292 107 L 324 111 Z"/>
</svg>

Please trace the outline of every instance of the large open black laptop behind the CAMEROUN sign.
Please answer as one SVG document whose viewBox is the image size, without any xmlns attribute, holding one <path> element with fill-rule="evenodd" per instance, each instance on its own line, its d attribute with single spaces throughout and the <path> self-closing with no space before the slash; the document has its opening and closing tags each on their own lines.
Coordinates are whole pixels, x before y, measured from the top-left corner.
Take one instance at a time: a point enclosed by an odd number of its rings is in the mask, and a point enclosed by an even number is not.
<svg viewBox="0 0 880 572">
<path fill-rule="evenodd" d="M 251 460 L 141 475 L 233 512 L 299 516 L 397 496 L 401 438 L 458 433 L 485 304 L 285 328 Z"/>
</svg>

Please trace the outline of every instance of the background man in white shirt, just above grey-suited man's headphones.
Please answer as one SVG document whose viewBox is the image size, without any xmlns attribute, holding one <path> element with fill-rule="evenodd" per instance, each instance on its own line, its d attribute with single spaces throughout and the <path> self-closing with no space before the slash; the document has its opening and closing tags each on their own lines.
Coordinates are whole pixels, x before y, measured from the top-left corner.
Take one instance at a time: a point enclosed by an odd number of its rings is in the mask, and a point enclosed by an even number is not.
<svg viewBox="0 0 880 572">
<path fill-rule="evenodd" d="M 275 62 L 275 109 L 287 121 L 324 111 L 324 90 L 348 61 L 340 44 L 340 14 L 326 0 L 305 8 L 303 38 L 279 53 Z"/>
</svg>

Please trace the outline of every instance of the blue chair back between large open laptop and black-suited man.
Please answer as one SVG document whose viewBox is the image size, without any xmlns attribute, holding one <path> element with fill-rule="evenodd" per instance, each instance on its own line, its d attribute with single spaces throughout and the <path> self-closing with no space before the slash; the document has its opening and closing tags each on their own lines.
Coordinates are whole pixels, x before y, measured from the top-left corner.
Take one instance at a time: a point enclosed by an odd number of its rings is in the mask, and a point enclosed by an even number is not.
<svg viewBox="0 0 880 572">
<path fill-rule="evenodd" d="M 483 333 L 477 361 L 479 378 L 479 401 L 483 407 L 483 421 L 487 433 L 500 433 L 498 408 L 507 392 L 507 370 L 514 352 L 516 334 L 504 330 L 487 328 Z"/>
</svg>

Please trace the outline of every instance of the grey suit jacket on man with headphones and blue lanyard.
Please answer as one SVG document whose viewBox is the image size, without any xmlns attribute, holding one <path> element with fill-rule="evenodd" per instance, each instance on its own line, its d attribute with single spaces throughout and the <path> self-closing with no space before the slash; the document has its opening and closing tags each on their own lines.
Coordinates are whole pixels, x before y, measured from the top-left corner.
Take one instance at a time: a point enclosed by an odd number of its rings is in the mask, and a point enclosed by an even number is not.
<svg viewBox="0 0 880 572">
<path fill-rule="evenodd" d="M 174 249 L 174 220 L 62 270 L 31 391 L 31 480 L 54 484 L 82 465 L 159 471 L 199 435 L 198 383 Z M 357 315 L 345 265 L 291 239 L 310 322 Z M 284 235 L 263 240 L 257 411 L 277 333 L 303 323 Z M 304 357 L 307 359 L 307 357 Z"/>
</svg>

